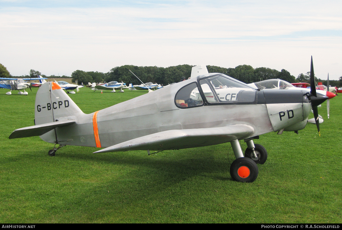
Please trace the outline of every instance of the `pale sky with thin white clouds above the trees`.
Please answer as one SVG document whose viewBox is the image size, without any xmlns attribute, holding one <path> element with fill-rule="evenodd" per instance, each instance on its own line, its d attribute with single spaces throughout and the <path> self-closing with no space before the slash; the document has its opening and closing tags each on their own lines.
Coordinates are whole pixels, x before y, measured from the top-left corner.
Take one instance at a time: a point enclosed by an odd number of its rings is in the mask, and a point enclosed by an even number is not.
<svg viewBox="0 0 342 230">
<path fill-rule="evenodd" d="M 0 0 L 0 63 L 12 76 L 126 64 L 286 69 L 342 76 L 342 1 Z"/>
</svg>

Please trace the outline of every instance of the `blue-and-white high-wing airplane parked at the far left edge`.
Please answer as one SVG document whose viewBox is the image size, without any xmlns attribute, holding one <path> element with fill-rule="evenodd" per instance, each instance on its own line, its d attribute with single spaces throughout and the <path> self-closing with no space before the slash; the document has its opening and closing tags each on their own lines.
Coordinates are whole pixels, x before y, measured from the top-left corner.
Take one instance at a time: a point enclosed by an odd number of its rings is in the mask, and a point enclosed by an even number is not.
<svg viewBox="0 0 342 230">
<path fill-rule="evenodd" d="M 7 95 L 12 94 L 12 90 L 18 90 L 18 94 L 28 95 L 28 92 L 25 91 L 26 88 L 30 88 L 30 83 L 26 83 L 25 81 L 34 81 L 39 79 L 48 79 L 48 78 L 0 78 L 0 88 L 10 89 L 11 91 L 6 92 Z M 20 91 L 21 89 L 24 92 Z"/>
</svg>

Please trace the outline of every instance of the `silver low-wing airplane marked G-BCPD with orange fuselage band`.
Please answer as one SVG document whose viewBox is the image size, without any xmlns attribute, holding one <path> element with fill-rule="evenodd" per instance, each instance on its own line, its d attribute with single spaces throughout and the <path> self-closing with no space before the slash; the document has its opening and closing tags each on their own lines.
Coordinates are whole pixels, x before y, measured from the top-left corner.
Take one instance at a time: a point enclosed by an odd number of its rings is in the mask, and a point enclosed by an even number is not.
<svg viewBox="0 0 342 230">
<path fill-rule="evenodd" d="M 311 73 L 315 85 L 312 60 Z M 204 94 L 208 89 L 211 94 Z M 40 136 L 55 144 L 50 156 L 65 145 L 104 147 L 95 153 L 149 153 L 230 142 L 236 158 L 230 167 L 232 178 L 253 182 L 259 173 L 257 163 L 267 159 L 266 149 L 253 140 L 272 131 L 304 129 L 311 108 L 317 118 L 317 105 L 326 99 L 315 87 L 311 92 L 255 89 L 210 73 L 84 114 L 59 85 L 49 82 L 37 92 L 36 124 L 13 131 L 9 138 Z M 317 128 L 319 132 L 319 123 Z M 245 155 L 239 140 L 247 143 Z"/>
</svg>

